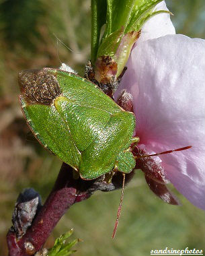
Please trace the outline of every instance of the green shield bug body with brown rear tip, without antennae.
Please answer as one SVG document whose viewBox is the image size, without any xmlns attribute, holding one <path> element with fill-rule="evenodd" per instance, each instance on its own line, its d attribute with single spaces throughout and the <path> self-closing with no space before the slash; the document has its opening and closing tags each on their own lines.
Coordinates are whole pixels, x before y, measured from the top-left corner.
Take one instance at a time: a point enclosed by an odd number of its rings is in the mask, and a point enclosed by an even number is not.
<svg viewBox="0 0 205 256">
<path fill-rule="evenodd" d="M 113 169 L 132 171 L 134 114 L 95 84 L 74 73 L 44 68 L 22 71 L 19 86 L 22 111 L 38 141 L 82 179 L 96 179 Z"/>
</svg>

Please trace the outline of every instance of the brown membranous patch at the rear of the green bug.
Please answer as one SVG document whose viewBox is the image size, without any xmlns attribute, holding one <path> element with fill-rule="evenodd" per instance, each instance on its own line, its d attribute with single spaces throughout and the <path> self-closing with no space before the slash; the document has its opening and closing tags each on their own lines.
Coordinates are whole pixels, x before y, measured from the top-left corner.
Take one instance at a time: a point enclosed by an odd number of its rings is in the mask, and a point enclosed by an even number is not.
<svg viewBox="0 0 205 256">
<path fill-rule="evenodd" d="M 21 71 L 18 82 L 28 104 L 50 105 L 60 95 L 60 86 L 56 77 L 46 69 Z"/>
</svg>

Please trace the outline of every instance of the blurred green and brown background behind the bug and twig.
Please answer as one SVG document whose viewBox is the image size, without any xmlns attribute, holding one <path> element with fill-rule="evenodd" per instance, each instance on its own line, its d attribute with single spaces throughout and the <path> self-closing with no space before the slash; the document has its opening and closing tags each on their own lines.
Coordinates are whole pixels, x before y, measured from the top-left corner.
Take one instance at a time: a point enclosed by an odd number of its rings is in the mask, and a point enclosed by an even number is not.
<svg viewBox="0 0 205 256">
<path fill-rule="evenodd" d="M 174 13 L 177 33 L 204 38 L 204 0 L 169 0 L 167 5 Z M 34 187 L 44 201 L 61 165 L 28 135 L 17 99 L 17 74 L 22 69 L 59 67 L 63 62 L 83 75 L 89 59 L 90 24 L 89 0 L 0 0 L 0 255 L 7 255 L 5 235 L 19 192 Z M 175 193 L 183 206 L 163 203 L 136 172 L 125 189 L 114 241 L 120 191 L 97 192 L 71 207 L 46 245 L 51 247 L 54 238 L 74 228 L 73 236 L 83 239 L 76 246 L 76 256 L 147 256 L 151 249 L 165 247 L 204 249 L 204 212 Z"/>
</svg>

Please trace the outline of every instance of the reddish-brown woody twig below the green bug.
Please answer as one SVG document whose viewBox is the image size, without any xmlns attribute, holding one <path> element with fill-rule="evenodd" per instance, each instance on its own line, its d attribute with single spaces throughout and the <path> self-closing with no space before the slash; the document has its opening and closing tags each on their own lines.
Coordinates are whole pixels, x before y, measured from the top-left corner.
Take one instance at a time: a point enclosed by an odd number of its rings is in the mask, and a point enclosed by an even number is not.
<svg viewBox="0 0 205 256">
<path fill-rule="evenodd" d="M 63 164 L 54 188 L 26 234 L 17 239 L 14 230 L 9 230 L 7 234 L 9 255 L 34 255 L 39 251 L 69 207 L 91 196 L 90 191 L 87 190 L 91 184 L 89 181 L 73 179 L 72 168 Z"/>
</svg>

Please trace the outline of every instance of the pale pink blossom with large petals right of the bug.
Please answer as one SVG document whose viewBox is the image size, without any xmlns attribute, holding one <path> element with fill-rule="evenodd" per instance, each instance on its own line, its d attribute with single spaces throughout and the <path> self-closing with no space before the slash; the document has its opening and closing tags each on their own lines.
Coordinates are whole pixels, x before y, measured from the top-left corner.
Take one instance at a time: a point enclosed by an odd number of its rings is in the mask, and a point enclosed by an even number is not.
<svg viewBox="0 0 205 256">
<path fill-rule="evenodd" d="M 116 95 L 126 89 L 133 96 L 139 147 L 158 153 L 192 146 L 159 158 L 165 177 L 205 210 L 205 40 L 175 34 L 163 13 L 142 28 L 126 66 Z"/>
</svg>

